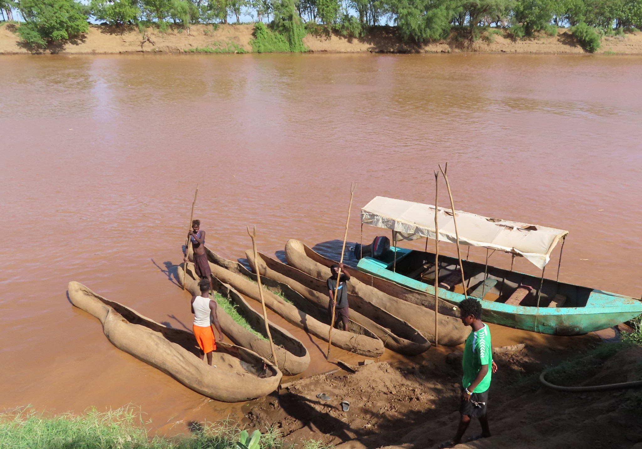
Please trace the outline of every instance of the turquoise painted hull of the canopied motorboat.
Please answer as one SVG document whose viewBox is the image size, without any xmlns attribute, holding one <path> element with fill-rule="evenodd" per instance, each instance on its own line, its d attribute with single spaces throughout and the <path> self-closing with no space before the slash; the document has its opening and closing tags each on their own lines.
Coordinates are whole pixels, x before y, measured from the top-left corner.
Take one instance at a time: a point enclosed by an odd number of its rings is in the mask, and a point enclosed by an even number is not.
<svg viewBox="0 0 642 449">
<path fill-rule="evenodd" d="M 394 250 L 394 248 L 391 248 Z M 399 248 L 399 261 L 410 252 Z M 399 285 L 435 294 L 435 287 L 392 271 L 392 263 L 372 258 L 359 261 L 358 269 L 373 276 L 383 277 Z M 547 282 L 553 282 L 548 281 Z M 561 285 L 561 284 L 560 284 Z M 583 288 L 583 287 L 580 287 Z M 460 303 L 463 294 L 439 288 L 439 297 L 453 304 Z M 479 299 L 479 298 L 478 298 Z M 509 328 L 522 329 L 550 335 L 581 335 L 602 330 L 629 321 L 642 313 L 642 301 L 601 290 L 591 290 L 586 305 L 581 307 L 514 306 L 494 301 L 481 301 L 482 319 Z"/>
</svg>

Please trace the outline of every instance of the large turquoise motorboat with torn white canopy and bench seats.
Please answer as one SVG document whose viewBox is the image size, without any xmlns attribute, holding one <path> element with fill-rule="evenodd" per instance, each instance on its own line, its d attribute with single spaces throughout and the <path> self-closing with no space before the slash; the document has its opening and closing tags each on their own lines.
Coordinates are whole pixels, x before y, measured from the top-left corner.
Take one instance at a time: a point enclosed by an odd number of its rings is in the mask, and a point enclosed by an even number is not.
<svg viewBox="0 0 642 449">
<path fill-rule="evenodd" d="M 438 232 L 435 231 L 437 210 Z M 392 229 L 393 245 L 377 237 L 372 245 L 356 245 L 358 269 L 399 285 L 438 295 L 453 304 L 465 295 L 482 300 L 482 319 L 510 328 L 552 335 L 579 335 L 629 321 L 642 313 L 642 301 L 594 288 L 562 283 L 544 277 L 551 251 L 568 231 L 497 220 L 426 204 L 376 197 L 361 209 L 361 222 Z M 456 238 L 458 234 L 459 238 Z M 440 242 L 485 247 L 525 257 L 542 270 L 531 276 L 488 263 L 439 256 L 398 247 L 399 240 L 438 238 Z M 379 240 L 377 240 L 379 239 Z M 388 240 L 388 242 L 390 242 Z M 561 261 L 561 251 L 560 251 Z M 511 267 L 512 267 L 511 263 Z M 464 279 L 462 281 L 462 268 Z M 559 277 L 559 266 L 557 271 Z"/>
</svg>

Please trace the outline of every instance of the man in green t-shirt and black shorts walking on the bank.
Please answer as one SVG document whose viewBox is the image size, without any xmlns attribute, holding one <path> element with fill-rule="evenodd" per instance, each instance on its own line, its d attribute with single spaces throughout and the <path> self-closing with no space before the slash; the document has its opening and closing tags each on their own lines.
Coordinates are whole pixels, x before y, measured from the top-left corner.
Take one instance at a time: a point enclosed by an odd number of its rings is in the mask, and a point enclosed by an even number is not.
<svg viewBox="0 0 642 449">
<path fill-rule="evenodd" d="M 462 436 L 471 423 L 471 418 L 477 418 L 482 425 L 482 434 L 471 441 L 490 436 L 486 405 L 491 373 L 497 372 L 497 365 L 492 361 L 490 346 L 490 329 L 482 322 L 482 304 L 473 298 L 466 298 L 459 304 L 462 322 L 471 326 L 473 331 L 468 335 L 464 345 L 462 367 L 462 397 L 459 405 L 461 418 L 455 438 L 447 441 L 440 448 L 450 448 L 462 442 Z"/>
</svg>

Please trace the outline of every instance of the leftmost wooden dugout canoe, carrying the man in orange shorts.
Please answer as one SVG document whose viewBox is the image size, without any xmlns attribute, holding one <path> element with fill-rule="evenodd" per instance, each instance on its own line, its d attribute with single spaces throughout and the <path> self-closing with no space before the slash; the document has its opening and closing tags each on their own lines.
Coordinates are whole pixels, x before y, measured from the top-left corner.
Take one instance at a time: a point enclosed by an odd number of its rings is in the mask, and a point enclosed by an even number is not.
<svg viewBox="0 0 642 449">
<path fill-rule="evenodd" d="M 74 306 L 100 320 L 116 348 L 208 398 L 224 402 L 261 398 L 281 382 L 281 371 L 249 349 L 217 342 L 216 367 L 211 367 L 198 357 L 193 333 L 163 326 L 75 281 L 69 283 L 67 292 Z"/>
</svg>

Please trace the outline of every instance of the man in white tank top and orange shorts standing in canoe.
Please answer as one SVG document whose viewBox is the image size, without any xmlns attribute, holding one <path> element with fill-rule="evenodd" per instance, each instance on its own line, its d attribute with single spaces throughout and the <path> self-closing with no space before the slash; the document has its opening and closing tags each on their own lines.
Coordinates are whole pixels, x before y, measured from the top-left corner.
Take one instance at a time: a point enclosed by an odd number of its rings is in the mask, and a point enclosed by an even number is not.
<svg viewBox="0 0 642 449">
<path fill-rule="evenodd" d="M 201 279 L 198 283 L 201 290 L 200 296 L 192 297 L 192 313 L 194 313 L 194 336 L 201 348 L 200 358 L 203 360 L 207 355 L 207 364 L 212 365 L 212 353 L 216 350 L 216 339 L 214 339 L 214 330 L 212 324 L 218 331 L 218 340 L 223 341 L 221 325 L 218 324 L 216 316 L 216 301 L 209 299 L 209 280 Z"/>
</svg>

